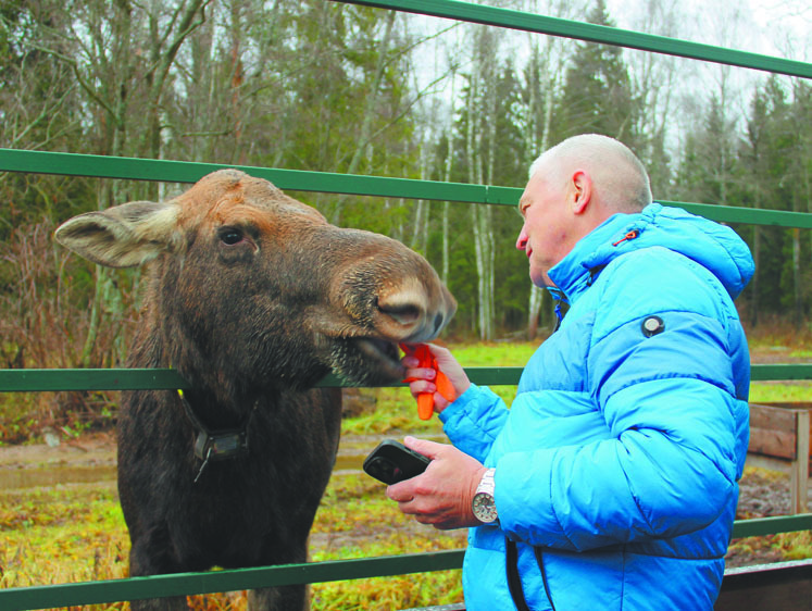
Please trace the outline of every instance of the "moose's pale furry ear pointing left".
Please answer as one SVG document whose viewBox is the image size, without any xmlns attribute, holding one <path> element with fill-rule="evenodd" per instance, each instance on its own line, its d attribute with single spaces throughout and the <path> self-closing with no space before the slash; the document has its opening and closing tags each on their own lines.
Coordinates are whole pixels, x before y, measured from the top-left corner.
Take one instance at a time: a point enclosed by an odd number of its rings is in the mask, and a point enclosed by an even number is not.
<svg viewBox="0 0 812 611">
<path fill-rule="evenodd" d="M 132 201 L 66 221 L 54 233 L 62 246 L 108 267 L 134 267 L 174 250 L 178 208 Z"/>
</svg>

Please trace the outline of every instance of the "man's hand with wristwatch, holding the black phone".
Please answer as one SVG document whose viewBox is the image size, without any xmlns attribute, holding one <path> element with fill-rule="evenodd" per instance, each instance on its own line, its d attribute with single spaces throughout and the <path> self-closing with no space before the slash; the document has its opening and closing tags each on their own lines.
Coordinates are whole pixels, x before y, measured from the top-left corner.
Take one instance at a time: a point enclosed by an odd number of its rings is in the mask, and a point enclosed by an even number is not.
<svg viewBox="0 0 812 611">
<path fill-rule="evenodd" d="M 423 474 L 386 489 L 386 496 L 398 502 L 400 511 L 414 515 L 421 524 L 444 531 L 480 525 L 471 501 L 485 466 L 453 446 L 414 437 L 407 437 L 404 444 L 432 459 L 432 463 Z"/>
</svg>

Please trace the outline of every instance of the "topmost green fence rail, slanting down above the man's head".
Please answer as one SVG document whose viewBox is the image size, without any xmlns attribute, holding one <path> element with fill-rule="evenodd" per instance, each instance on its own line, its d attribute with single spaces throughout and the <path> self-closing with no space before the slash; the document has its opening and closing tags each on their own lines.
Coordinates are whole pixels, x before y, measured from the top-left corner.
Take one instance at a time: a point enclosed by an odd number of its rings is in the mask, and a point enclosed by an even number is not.
<svg viewBox="0 0 812 611">
<path fill-rule="evenodd" d="M 617 47 L 626 47 L 652 53 L 675 55 L 691 60 L 701 60 L 711 63 L 749 67 L 788 76 L 801 76 L 812 78 L 812 64 L 761 55 L 749 51 L 725 49 L 701 42 L 679 40 L 630 32 L 605 25 L 582 23 L 559 17 L 548 17 L 532 13 L 523 13 L 511 9 L 497 7 L 485 7 L 470 2 L 458 2 L 455 0 L 334 0 L 350 4 L 362 4 L 378 9 L 393 9 L 408 13 L 419 13 L 435 17 L 447 17 L 463 22 L 477 23 L 480 25 L 492 25 L 509 29 L 534 32 L 537 34 L 550 34 L 564 38 L 575 38 L 589 42 L 603 42 Z"/>
</svg>

